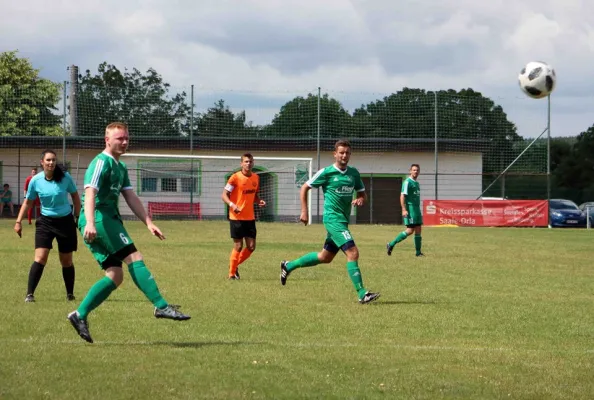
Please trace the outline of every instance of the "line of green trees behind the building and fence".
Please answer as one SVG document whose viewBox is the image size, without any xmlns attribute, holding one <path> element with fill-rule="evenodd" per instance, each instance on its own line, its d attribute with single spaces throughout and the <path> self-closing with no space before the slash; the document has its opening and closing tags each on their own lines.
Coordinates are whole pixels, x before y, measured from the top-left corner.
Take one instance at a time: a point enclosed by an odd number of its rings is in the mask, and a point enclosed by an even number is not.
<svg viewBox="0 0 594 400">
<path fill-rule="evenodd" d="M 318 123 L 323 138 L 378 141 L 432 138 L 437 128 L 440 139 L 480 142 L 487 174 L 501 172 L 530 142 L 518 134 L 500 105 L 472 89 L 403 88 L 352 113 L 328 94 L 318 99 L 310 93 L 286 102 L 269 124 L 254 125 L 245 111 L 233 112 L 223 99 L 204 112 L 193 112 L 188 94 L 172 93 L 170 84 L 152 68 L 145 73 L 135 68 L 122 71 L 103 62 L 96 73 L 80 74 L 78 87 L 78 136 L 101 135 L 116 120 L 143 136 L 271 140 L 315 140 Z M 61 84 L 41 78 L 39 70 L 16 51 L 0 53 L 0 136 L 64 135 L 56 106 L 62 90 Z M 593 158 L 594 125 L 573 138 L 552 139 L 554 192 L 578 202 L 594 200 Z M 509 172 L 546 173 L 546 141 L 535 143 Z"/>
</svg>

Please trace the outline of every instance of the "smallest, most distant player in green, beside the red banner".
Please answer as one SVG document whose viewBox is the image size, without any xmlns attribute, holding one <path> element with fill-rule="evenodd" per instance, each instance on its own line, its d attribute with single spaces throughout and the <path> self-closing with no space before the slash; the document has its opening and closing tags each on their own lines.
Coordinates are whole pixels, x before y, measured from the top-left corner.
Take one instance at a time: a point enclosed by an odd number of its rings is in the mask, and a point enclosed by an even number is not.
<svg viewBox="0 0 594 400">
<path fill-rule="evenodd" d="M 410 166 L 410 176 L 402 182 L 402 191 L 400 194 L 400 205 L 402 206 L 402 219 L 406 229 L 398 234 L 394 240 L 386 244 L 388 255 L 396 244 L 415 233 L 415 250 L 417 257 L 422 257 L 421 252 L 421 230 L 423 228 L 423 214 L 421 213 L 421 187 L 417 178 L 421 172 L 419 164 Z"/>
</svg>

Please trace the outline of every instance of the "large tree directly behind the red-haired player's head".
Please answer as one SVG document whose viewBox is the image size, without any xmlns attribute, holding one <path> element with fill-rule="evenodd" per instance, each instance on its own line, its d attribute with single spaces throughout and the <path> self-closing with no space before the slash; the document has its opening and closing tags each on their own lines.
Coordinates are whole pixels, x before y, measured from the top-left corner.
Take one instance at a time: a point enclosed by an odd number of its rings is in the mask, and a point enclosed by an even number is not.
<svg viewBox="0 0 594 400">
<path fill-rule="evenodd" d="M 152 68 L 120 71 L 102 63 L 98 73 L 79 76 L 77 103 L 81 136 L 103 135 L 110 122 L 122 121 L 142 136 L 184 136 L 189 132 L 186 93 L 170 95 L 170 85 Z"/>
</svg>

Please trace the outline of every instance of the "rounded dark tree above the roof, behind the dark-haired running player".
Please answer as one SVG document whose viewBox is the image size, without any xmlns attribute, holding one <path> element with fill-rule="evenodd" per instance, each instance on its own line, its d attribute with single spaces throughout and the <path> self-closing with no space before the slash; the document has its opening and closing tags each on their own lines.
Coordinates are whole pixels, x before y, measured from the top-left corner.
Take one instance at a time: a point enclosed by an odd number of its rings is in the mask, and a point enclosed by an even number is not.
<svg viewBox="0 0 594 400">
<path fill-rule="evenodd" d="M 320 137 L 341 138 L 352 136 L 351 115 L 336 99 L 328 94 L 320 97 Z M 318 96 L 295 97 L 285 103 L 269 126 L 268 137 L 316 138 L 318 134 Z"/>
</svg>

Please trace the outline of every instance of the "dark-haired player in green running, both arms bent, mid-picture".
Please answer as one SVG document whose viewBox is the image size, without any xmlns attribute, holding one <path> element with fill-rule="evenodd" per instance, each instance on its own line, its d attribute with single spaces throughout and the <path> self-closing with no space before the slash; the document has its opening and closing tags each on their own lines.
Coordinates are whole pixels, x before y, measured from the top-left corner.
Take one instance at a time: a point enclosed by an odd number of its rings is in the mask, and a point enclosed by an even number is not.
<svg viewBox="0 0 594 400">
<path fill-rule="evenodd" d="M 347 257 L 347 272 L 357 291 L 361 304 L 376 300 L 380 294 L 365 289 L 361 271 L 359 270 L 359 249 L 349 231 L 351 207 L 361 207 L 367 200 L 365 186 L 356 168 L 349 167 L 351 145 L 346 140 L 339 140 L 334 145 L 334 164 L 318 171 L 301 187 L 301 216 L 300 221 L 305 225 L 309 222 L 307 208 L 307 194 L 311 188 L 322 188 L 324 193 L 324 227 L 326 228 L 326 242 L 319 253 L 308 253 L 293 261 L 281 261 L 280 281 L 287 283 L 289 274 L 303 267 L 331 262 L 339 250 Z M 353 199 L 353 194 L 357 193 Z"/>
</svg>

